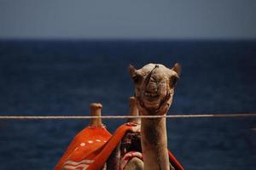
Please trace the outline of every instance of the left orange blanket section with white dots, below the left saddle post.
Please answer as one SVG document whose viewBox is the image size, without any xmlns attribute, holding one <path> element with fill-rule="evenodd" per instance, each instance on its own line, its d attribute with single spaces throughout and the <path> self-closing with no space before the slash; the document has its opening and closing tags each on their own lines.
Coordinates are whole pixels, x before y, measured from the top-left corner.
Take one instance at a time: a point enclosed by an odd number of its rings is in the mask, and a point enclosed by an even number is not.
<svg viewBox="0 0 256 170">
<path fill-rule="evenodd" d="M 71 167 L 88 169 L 91 161 L 95 160 L 111 136 L 111 133 L 104 127 L 85 127 L 69 144 L 61 160 L 55 166 L 55 170 L 71 169 Z"/>
</svg>

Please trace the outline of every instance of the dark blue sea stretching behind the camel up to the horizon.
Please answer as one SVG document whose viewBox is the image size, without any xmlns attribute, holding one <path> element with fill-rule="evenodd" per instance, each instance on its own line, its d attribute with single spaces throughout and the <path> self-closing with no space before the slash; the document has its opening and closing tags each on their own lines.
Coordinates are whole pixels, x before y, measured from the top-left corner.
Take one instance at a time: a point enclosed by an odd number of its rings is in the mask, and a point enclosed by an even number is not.
<svg viewBox="0 0 256 170">
<path fill-rule="evenodd" d="M 127 65 L 183 65 L 169 114 L 256 111 L 256 42 L 0 41 L 1 116 L 125 115 Z M 113 132 L 125 120 L 104 121 Z M 87 121 L 0 121 L 0 169 L 53 169 Z M 168 120 L 189 170 L 253 170 L 256 118 Z"/>
</svg>

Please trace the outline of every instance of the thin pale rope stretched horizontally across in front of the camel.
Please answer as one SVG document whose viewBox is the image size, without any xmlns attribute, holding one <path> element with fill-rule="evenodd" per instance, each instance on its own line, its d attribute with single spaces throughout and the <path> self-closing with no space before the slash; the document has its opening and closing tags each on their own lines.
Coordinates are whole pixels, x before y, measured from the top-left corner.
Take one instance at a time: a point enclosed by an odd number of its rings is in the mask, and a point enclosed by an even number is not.
<svg viewBox="0 0 256 170">
<path fill-rule="evenodd" d="M 190 115 L 168 115 L 168 116 L 0 116 L 0 120 L 67 120 L 67 119 L 127 119 L 127 118 L 245 118 L 256 117 L 256 113 L 240 114 L 190 114 Z"/>
</svg>

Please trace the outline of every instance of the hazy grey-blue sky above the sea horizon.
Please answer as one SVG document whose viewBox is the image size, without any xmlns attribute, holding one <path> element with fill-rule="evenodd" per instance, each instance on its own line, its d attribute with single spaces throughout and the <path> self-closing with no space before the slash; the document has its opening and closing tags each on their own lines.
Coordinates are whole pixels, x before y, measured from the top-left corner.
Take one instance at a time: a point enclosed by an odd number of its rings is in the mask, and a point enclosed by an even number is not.
<svg viewBox="0 0 256 170">
<path fill-rule="evenodd" d="M 0 0 L 0 38 L 256 39 L 256 1 Z"/>
</svg>

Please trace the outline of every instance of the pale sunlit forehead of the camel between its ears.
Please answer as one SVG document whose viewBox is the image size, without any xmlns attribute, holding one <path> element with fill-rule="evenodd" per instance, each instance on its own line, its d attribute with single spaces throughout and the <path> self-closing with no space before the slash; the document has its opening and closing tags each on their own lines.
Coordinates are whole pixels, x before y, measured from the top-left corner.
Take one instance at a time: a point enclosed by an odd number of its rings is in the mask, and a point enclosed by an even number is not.
<svg viewBox="0 0 256 170">
<path fill-rule="evenodd" d="M 155 68 L 156 65 L 158 65 L 158 71 L 160 71 L 161 73 L 164 73 L 166 75 L 172 74 L 172 70 L 167 68 L 165 65 L 153 63 L 144 65 L 143 68 L 139 69 L 138 71 L 142 72 L 143 75 L 147 75 L 150 71 L 152 71 Z"/>
</svg>

